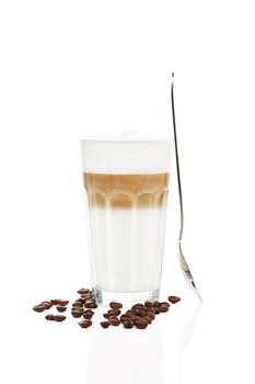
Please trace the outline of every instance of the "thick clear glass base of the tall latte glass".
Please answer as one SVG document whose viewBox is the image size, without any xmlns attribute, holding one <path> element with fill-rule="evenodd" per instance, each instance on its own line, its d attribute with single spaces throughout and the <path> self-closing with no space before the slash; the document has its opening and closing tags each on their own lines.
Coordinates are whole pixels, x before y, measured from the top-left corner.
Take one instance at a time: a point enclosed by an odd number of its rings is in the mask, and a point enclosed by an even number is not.
<svg viewBox="0 0 255 384">
<path fill-rule="evenodd" d="M 111 292 L 103 291 L 100 287 L 93 287 L 93 294 L 98 304 L 108 305 L 111 302 L 121 303 L 124 306 L 130 306 L 135 303 L 146 301 L 154 302 L 159 300 L 160 290 L 146 292 Z"/>
</svg>

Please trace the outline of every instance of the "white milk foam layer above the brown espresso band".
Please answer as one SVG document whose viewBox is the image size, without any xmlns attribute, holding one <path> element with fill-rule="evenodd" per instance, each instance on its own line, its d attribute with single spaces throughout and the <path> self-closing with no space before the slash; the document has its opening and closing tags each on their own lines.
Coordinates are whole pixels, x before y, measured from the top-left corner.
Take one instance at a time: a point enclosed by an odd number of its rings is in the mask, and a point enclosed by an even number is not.
<svg viewBox="0 0 255 384">
<path fill-rule="evenodd" d="M 141 174 L 170 170 L 172 140 L 81 140 L 88 173 Z"/>
</svg>

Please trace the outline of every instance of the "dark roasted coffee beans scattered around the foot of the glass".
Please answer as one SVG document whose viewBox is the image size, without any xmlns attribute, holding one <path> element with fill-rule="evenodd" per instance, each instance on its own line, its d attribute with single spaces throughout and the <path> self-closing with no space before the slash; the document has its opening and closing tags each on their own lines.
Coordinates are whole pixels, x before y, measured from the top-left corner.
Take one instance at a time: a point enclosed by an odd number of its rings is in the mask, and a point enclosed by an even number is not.
<svg viewBox="0 0 255 384">
<path fill-rule="evenodd" d="M 93 292 L 89 289 L 80 289 L 77 291 L 80 295 L 72 303 L 71 315 L 74 318 L 82 319 L 78 323 L 81 328 L 89 328 L 92 326 L 92 317 L 94 310 L 97 308 L 96 301 L 94 298 Z M 148 325 L 152 324 L 157 315 L 166 313 L 170 309 L 171 304 L 176 304 L 181 301 L 178 296 L 169 296 L 167 302 L 144 302 L 134 304 L 125 313 L 121 314 L 123 304 L 117 302 L 109 303 L 109 309 L 107 313 L 103 314 L 105 320 L 101 321 L 102 328 L 108 328 L 109 326 L 117 327 L 123 325 L 126 329 L 137 328 L 146 329 Z M 171 303 L 171 304 L 170 304 Z M 44 312 L 50 309 L 53 306 L 56 306 L 57 310 L 63 313 L 67 310 L 67 305 L 69 301 L 61 298 L 55 298 L 46 302 L 42 302 L 38 305 L 35 305 L 33 309 L 35 312 Z M 45 319 L 48 321 L 58 321 L 61 323 L 66 320 L 63 315 L 53 315 L 48 314 L 45 316 Z"/>
</svg>

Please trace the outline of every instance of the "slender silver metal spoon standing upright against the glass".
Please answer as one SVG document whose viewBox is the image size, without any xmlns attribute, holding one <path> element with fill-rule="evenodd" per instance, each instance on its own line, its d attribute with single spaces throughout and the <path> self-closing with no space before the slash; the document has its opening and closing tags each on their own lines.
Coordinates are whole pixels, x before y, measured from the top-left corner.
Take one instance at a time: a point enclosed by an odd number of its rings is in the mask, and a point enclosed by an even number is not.
<svg viewBox="0 0 255 384">
<path fill-rule="evenodd" d="M 183 210 L 183 193 L 182 193 L 182 183 L 181 183 L 181 174 L 179 174 L 178 144 L 177 144 L 177 133 L 176 133 L 175 111 L 174 111 L 174 72 L 172 72 L 171 102 L 172 102 L 172 115 L 173 115 L 173 127 L 174 127 L 174 147 L 175 147 L 175 160 L 176 160 L 177 183 L 178 183 L 178 199 L 179 199 L 179 211 L 181 211 L 181 228 L 179 228 L 179 235 L 178 235 L 178 259 L 179 259 L 181 268 L 184 272 L 184 275 L 185 275 L 188 284 L 190 285 L 192 290 L 196 293 L 196 295 L 201 301 L 201 296 L 198 292 L 198 289 L 195 284 L 190 269 L 189 269 L 189 267 L 184 258 L 183 251 L 182 251 L 182 239 L 183 239 L 183 228 L 184 228 L 184 210 Z"/>
</svg>

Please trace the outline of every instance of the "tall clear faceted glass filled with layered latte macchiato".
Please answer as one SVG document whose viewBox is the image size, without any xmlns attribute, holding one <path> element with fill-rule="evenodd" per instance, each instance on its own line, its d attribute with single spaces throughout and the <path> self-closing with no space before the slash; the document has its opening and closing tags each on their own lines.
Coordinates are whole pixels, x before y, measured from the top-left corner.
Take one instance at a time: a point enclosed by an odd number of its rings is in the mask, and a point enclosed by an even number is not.
<svg viewBox="0 0 255 384">
<path fill-rule="evenodd" d="M 159 298 L 172 140 L 81 140 L 96 301 Z"/>
</svg>

